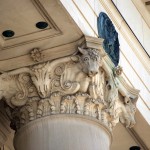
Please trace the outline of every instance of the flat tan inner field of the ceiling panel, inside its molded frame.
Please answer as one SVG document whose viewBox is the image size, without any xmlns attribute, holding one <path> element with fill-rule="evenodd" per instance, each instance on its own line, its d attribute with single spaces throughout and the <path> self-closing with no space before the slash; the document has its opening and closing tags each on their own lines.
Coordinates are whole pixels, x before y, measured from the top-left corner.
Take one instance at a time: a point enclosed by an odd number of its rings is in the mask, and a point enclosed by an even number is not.
<svg viewBox="0 0 150 150">
<path fill-rule="evenodd" d="M 3 0 L 3 2 L 1 1 L 0 13 L 3 14 L 0 20 L 0 32 L 11 29 L 15 31 L 14 38 L 40 32 L 35 24 L 38 21 L 45 21 L 45 18 L 30 0 L 22 0 L 21 2 L 16 0 L 16 3 L 14 0 Z"/>
</svg>

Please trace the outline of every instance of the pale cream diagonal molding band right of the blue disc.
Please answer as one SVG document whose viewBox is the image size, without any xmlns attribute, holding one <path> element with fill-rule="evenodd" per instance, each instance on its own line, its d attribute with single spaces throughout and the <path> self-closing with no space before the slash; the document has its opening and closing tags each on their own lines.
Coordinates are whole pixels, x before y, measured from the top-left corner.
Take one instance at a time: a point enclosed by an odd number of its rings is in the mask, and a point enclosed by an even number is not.
<svg viewBox="0 0 150 150">
<path fill-rule="evenodd" d="M 146 54 L 145 50 L 136 39 L 132 31 L 129 29 L 128 25 L 122 18 L 122 16 L 118 13 L 118 10 L 114 6 L 112 1 L 99 0 L 102 4 L 108 15 L 111 17 L 113 23 L 116 25 L 120 33 L 123 35 L 125 40 L 128 42 L 129 46 L 134 51 L 137 58 L 141 61 L 147 72 L 150 74 L 150 59 Z"/>
</svg>

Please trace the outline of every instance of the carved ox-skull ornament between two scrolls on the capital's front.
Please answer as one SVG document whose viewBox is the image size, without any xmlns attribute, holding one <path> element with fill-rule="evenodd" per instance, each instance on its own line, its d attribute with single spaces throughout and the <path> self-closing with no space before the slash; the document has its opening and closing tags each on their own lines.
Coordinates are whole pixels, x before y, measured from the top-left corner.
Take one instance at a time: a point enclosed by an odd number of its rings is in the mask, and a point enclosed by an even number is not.
<svg viewBox="0 0 150 150">
<path fill-rule="evenodd" d="M 36 68 L 33 68 L 32 71 L 33 74 L 31 75 L 31 79 L 37 88 L 39 96 L 41 98 L 48 97 L 50 92 L 48 63 L 44 64 L 44 66 L 43 64 L 38 65 Z"/>
</svg>

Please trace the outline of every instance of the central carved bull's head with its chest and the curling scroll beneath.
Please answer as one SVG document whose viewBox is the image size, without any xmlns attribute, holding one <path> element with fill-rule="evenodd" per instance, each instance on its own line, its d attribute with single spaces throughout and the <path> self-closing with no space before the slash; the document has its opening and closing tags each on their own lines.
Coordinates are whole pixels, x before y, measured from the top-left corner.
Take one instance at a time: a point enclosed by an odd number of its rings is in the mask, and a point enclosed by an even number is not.
<svg viewBox="0 0 150 150">
<path fill-rule="evenodd" d="M 96 98 L 101 84 L 99 68 L 104 54 L 100 55 L 96 49 L 79 48 L 79 52 L 81 55 L 71 57 L 72 61 L 65 65 L 60 79 L 61 90 L 66 94 L 88 92 Z"/>
</svg>

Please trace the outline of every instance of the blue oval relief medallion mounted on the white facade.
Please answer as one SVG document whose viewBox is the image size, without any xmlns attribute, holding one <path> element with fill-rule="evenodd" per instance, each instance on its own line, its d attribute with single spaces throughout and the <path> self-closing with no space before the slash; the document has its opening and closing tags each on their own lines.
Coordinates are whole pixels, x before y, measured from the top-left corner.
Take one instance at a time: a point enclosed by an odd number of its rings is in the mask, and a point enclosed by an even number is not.
<svg viewBox="0 0 150 150">
<path fill-rule="evenodd" d="M 104 50 L 115 66 L 117 66 L 119 63 L 118 33 L 116 32 L 115 27 L 109 17 L 104 12 L 101 12 L 97 18 L 97 27 L 99 37 L 104 39 Z"/>
</svg>

